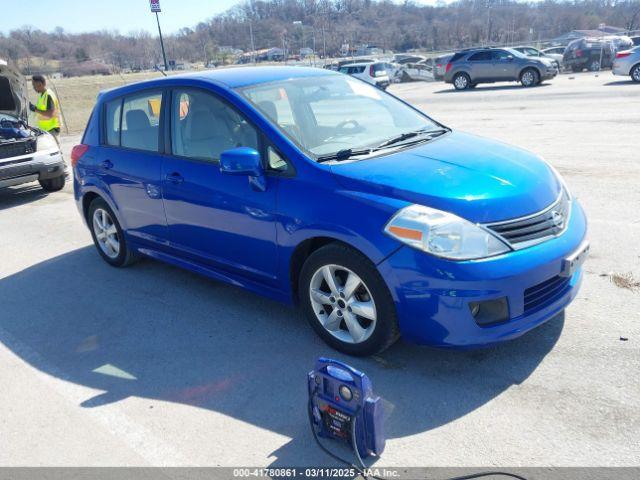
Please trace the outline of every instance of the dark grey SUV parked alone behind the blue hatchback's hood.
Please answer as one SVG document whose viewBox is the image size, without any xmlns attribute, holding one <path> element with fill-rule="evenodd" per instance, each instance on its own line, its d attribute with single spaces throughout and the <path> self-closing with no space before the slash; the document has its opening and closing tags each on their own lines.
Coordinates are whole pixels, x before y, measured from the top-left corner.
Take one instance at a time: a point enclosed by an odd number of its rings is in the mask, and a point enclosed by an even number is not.
<svg viewBox="0 0 640 480">
<path fill-rule="evenodd" d="M 556 66 L 546 58 L 531 58 L 509 48 L 476 48 L 451 57 L 444 81 L 456 90 L 494 82 L 520 82 L 533 87 L 557 74 Z"/>
</svg>

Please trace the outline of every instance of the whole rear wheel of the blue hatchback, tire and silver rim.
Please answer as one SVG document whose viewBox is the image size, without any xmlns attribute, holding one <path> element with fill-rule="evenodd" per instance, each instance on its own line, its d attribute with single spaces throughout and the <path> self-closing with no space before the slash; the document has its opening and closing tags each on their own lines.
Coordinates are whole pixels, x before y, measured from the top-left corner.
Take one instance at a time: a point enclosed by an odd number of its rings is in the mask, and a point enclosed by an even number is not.
<svg viewBox="0 0 640 480">
<path fill-rule="evenodd" d="M 128 247 L 120 223 L 107 202 L 101 198 L 93 200 L 87 220 L 93 243 L 105 262 L 114 267 L 126 267 L 134 262 L 135 253 Z"/>
</svg>

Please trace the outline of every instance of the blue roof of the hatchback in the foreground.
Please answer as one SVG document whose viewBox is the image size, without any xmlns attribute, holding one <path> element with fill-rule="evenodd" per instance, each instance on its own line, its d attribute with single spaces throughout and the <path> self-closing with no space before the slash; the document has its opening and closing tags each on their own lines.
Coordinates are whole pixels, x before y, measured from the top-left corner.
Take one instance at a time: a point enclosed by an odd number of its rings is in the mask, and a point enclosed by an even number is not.
<svg viewBox="0 0 640 480">
<path fill-rule="evenodd" d="M 191 72 L 181 75 L 169 75 L 163 78 L 155 78 L 143 82 L 136 82 L 123 87 L 108 90 L 109 94 L 127 93 L 128 90 L 138 90 L 144 87 L 163 87 L 170 83 L 175 85 L 181 80 L 200 80 L 222 85 L 227 88 L 241 88 L 260 83 L 276 82 L 279 80 L 289 80 L 293 78 L 319 77 L 326 75 L 340 75 L 332 70 L 312 67 L 231 67 L 218 70 L 206 70 L 202 72 Z M 102 93 L 107 93 L 102 92 Z"/>
</svg>

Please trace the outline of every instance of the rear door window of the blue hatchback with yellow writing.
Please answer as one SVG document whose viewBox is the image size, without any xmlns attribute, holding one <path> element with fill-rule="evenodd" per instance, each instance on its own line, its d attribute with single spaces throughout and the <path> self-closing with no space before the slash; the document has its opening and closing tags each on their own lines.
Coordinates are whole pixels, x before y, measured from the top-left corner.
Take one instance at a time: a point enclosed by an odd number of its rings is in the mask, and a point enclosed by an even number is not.
<svg viewBox="0 0 640 480">
<path fill-rule="evenodd" d="M 160 143 L 162 92 L 144 92 L 125 97 L 122 107 L 120 145 L 157 152 Z"/>
</svg>

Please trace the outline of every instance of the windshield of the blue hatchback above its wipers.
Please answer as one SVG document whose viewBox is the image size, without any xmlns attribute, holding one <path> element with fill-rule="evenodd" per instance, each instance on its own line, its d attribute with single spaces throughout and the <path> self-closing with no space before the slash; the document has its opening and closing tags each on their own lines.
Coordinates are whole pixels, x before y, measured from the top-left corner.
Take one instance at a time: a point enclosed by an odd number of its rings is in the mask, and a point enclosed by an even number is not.
<svg viewBox="0 0 640 480">
<path fill-rule="evenodd" d="M 240 89 L 301 149 L 317 159 L 442 127 L 392 96 L 346 75 L 283 80 Z"/>
</svg>

